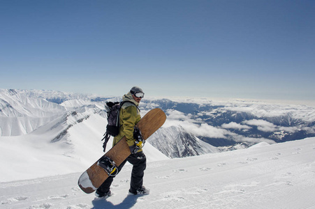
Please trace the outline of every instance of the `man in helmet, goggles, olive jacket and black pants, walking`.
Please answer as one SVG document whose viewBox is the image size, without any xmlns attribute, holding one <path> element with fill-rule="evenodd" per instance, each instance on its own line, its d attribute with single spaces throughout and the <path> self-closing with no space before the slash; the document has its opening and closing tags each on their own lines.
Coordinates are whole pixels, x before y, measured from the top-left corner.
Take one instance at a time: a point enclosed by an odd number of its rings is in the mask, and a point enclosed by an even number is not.
<svg viewBox="0 0 315 209">
<path fill-rule="evenodd" d="M 112 146 L 118 143 L 120 139 L 126 137 L 126 142 L 129 145 L 129 149 L 131 151 L 131 155 L 127 157 L 122 164 L 119 165 L 118 172 L 121 171 L 124 164 L 128 161 L 133 164 L 133 169 L 131 172 L 131 183 L 129 192 L 131 194 L 149 194 L 149 190 L 145 189 L 142 185 L 144 171 L 147 166 L 147 158 L 145 154 L 142 152 L 142 149 L 138 149 L 135 146 L 135 139 L 133 138 L 133 130 L 135 125 L 140 121 L 140 109 L 138 109 L 138 105 L 140 100 L 144 97 L 145 93 L 143 93 L 142 89 L 138 86 L 134 86 L 131 88 L 129 93 L 126 93 L 122 101 L 122 107 L 119 111 L 119 134 L 114 137 Z M 96 189 L 95 195 L 98 197 L 106 197 L 110 196 L 110 185 L 112 184 L 112 180 L 114 180 L 115 176 L 109 176 L 104 183 Z"/>
</svg>

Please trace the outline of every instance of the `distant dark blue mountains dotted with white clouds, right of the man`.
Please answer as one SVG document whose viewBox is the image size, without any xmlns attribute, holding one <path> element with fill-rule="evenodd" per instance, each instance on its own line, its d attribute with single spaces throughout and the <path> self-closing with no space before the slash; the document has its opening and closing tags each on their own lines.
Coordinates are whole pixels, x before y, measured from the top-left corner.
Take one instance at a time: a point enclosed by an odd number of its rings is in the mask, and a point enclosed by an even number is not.
<svg viewBox="0 0 315 209">
<path fill-rule="evenodd" d="M 315 135 L 315 108 L 247 100 L 146 100 L 212 146 L 279 143 Z"/>
</svg>

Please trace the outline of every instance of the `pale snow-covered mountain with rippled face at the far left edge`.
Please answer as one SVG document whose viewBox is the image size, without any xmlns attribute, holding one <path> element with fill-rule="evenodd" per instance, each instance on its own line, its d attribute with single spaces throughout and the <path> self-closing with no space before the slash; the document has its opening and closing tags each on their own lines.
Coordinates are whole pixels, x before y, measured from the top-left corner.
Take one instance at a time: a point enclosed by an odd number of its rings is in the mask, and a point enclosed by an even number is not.
<svg viewBox="0 0 315 209">
<path fill-rule="evenodd" d="M 0 135 L 19 136 L 36 130 L 65 113 L 66 109 L 15 90 L 0 90 Z"/>
</svg>

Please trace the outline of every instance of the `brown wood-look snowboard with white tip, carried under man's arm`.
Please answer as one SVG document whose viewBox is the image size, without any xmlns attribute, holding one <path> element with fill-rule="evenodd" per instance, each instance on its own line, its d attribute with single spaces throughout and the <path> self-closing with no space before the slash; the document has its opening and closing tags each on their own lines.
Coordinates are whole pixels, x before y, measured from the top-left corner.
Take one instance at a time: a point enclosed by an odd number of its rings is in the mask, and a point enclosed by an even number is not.
<svg viewBox="0 0 315 209">
<path fill-rule="evenodd" d="M 159 108 L 152 109 L 143 116 L 137 123 L 142 139 L 149 138 L 166 121 L 166 114 Z M 108 178 L 108 171 L 105 171 L 98 162 L 104 157 L 109 157 L 119 167 L 126 158 L 131 155 L 129 146 L 126 143 L 126 137 L 123 137 L 115 146 L 108 150 L 105 155 L 98 159 L 87 169 L 78 180 L 78 185 L 83 192 L 90 194 L 94 192 Z"/>
</svg>

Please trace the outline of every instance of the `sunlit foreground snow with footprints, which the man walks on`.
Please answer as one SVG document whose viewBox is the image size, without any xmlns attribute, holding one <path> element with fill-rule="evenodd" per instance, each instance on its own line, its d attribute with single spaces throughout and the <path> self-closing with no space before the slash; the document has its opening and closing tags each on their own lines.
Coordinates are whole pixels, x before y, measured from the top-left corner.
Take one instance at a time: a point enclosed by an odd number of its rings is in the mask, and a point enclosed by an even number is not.
<svg viewBox="0 0 315 209">
<path fill-rule="evenodd" d="M 151 147 L 146 146 L 144 150 L 149 155 Z M 52 160 L 60 163 L 55 169 L 68 170 L 75 166 L 69 164 L 71 161 L 61 162 L 64 158 Z M 155 160 L 147 163 L 145 171 L 149 195 L 128 195 L 129 164 L 112 183 L 113 196 L 105 200 L 80 190 L 77 181 L 83 170 L 45 176 L 44 170 L 49 168 L 33 167 L 28 172 L 43 177 L 2 180 L 0 208 L 315 208 L 315 137 L 272 145 L 263 142 L 224 153 Z M 21 166 L 17 159 L 1 157 L 1 168 L 5 161 L 6 167 Z M 24 175 L 1 170 L 1 176 L 3 173 L 13 178 Z"/>
</svg>

